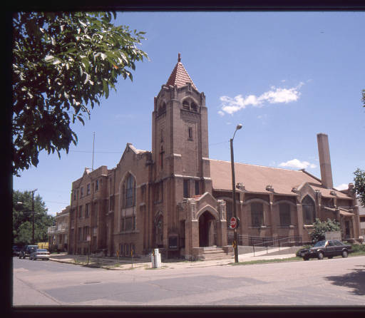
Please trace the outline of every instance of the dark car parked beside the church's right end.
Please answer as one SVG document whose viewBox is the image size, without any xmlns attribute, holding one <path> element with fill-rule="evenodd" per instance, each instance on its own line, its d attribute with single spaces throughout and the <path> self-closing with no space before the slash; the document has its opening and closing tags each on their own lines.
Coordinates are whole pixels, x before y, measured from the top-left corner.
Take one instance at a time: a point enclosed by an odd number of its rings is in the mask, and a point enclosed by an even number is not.
<svg viewBox="0 0 365 318">
<path fill-rule="evenodd" d="M 323 260 L 323 257 L 332 258 L 338 255 L 347 257 L 351 252 L 353 252 L 351 245 L 345 245 L 339 240 L 322 240 L 314 244 L 313 247 L 299 250 L 297 256 L 303 257 L 303 260 L 309 260 L 310 258 Z"/>
</svg>

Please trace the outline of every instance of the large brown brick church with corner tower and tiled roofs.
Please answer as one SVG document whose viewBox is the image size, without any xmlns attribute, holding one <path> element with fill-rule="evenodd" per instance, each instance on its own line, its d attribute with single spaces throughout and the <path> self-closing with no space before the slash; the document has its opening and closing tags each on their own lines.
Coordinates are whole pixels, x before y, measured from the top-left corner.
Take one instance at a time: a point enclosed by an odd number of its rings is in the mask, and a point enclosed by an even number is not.
<svg viewBox="0 0 365 318">
<path fill-rule="evenodd" d="M 209 158 L 205 95 L 180 61 L 155 97 L 152 150 L 127 143 L 115 168 L 86 168 L 72 183 L 68 252 L 196 260 L 204 247 L 229 252 L 230 162 Z M 328 137 L 317 135 L 321 178 L 303 170 L 235 163 L 239 245 L 307 242 L 315 218 L 336 219 L 359 237 L 354 185 L 335 190 Z"/>
</svg>

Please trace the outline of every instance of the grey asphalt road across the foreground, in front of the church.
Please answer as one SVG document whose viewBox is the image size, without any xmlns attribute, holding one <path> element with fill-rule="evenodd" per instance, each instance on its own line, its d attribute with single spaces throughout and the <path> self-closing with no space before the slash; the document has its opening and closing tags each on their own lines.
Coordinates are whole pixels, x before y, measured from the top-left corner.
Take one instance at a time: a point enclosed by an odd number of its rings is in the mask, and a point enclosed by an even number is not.
<svg viewBox="0 0 365 318">
<path fill-rule="evenodd" d="M 153 270 L 13 262 L 14 306 L 365 305 L 365 256 Z"/>
</svg>

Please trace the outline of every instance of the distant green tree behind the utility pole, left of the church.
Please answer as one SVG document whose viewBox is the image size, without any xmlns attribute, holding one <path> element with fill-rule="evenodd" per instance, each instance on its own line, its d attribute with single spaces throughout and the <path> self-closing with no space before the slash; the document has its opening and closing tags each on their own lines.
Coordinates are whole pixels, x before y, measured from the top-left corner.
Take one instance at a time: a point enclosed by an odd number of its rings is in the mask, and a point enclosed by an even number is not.
<svg viewBox="0 0 365 318">
<path fill-rule="evenodd" d="M 55 224 L 55 218 L 47 214 L 46 204 L 40 195 L 34 196 L 34 240 L 47 242 L 47 228 Z M 31 244 L 33 231 L 31 191 L 13 192 L 13 239 L 14 244 Z"/>
</svg>

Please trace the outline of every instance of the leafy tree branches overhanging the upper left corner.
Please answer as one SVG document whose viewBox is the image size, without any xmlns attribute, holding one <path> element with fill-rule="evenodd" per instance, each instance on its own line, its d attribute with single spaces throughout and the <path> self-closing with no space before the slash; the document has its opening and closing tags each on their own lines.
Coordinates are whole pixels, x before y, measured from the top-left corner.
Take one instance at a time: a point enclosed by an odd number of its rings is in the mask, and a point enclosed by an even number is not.
<svg viewBox="0 0 365 318">
<path fill-rule="evenodd" d="M 58 153 L 77 135 L 71 123 L 133 80 L 144 32 L 114 26 L 115 13 L 18 12 L 13 16 L 13 174 L 38 165 L 38 153 Z"/>
</svg>

